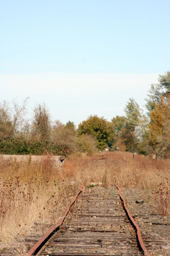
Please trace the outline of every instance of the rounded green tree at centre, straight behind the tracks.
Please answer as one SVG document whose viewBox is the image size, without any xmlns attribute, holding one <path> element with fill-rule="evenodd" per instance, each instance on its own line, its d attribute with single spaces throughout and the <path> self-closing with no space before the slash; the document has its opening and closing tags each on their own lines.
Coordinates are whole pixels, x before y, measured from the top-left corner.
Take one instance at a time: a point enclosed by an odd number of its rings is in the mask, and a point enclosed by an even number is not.
<svg viewBox="0 0 170 256">
<path fill-rule="evenodd" d="M 96 146 L 103 150 L 107 145 L 111 146 L 114 140 L 113 123 L 108 122 L 104 117 L 97 115 L 90 116 L 86 121 L 78 125 L 78 134 L 90 134 L 96 138 Z"/>
</svg>

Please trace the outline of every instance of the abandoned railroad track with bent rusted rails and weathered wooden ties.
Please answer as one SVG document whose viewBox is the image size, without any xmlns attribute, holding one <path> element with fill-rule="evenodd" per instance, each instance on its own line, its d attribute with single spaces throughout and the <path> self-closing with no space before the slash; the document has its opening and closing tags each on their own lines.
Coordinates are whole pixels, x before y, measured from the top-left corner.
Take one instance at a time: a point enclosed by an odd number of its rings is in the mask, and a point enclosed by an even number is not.
<svg viewBox="0 0 170 256">
<path fill-rule="evenodd" d="M 44 236 L 41 249 L 35 245 L 27 255 L 168 255 L 160 237 L 140 233 L 118 189 L 97 186 L 81 194 L 80 190 L 71 210 Z"/>
</svg>

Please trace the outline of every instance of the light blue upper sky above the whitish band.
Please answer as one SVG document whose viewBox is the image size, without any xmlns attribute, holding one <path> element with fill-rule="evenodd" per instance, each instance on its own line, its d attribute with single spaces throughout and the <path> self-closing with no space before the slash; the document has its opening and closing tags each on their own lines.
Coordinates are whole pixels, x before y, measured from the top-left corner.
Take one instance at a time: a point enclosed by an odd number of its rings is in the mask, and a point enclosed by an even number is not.
<svg viewBox="0 0 170 256">
<path fill-rule="evenodd" d="M 163 73 L 170 1 L 1 0 L 0 73 Z"/>
</svg>

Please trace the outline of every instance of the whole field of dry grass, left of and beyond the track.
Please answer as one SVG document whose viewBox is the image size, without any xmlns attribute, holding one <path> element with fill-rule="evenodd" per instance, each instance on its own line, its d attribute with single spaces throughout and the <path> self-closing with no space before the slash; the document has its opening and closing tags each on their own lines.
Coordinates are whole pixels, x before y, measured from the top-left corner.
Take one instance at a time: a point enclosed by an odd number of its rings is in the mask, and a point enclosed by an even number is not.
<svg viewBox="0 0 170 256">
<path fill-rule="evenodd" d="M 105 160 L 98 158 L 107 157 Z M 0 162 L 0 250 L 15 247 L 24 255 L 29 247 L 24 238 L 42 236 L 61 218 L 80 185 L 90 182 L 119 184 L 122 188 L 156 191 L 169 182 L 170 160 L 155 160 L 129 152 L 104 152 L 93 156 L 72 156 L 55 169 L 50 160 Z M 13 253 L 17 255 L 17 252 Z"/>
</svg>

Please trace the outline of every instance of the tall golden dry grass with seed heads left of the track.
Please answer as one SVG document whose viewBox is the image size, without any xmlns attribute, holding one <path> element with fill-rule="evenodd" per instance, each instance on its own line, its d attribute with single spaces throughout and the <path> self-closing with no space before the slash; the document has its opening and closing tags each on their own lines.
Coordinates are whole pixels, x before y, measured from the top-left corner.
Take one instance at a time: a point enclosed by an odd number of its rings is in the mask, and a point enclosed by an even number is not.
<svg viewBox="0 0 170 256">
<path fill-rule="evenodd" d="M 0 174 L 0 248 L 22 247 L 24 253 L 30 245 L 21 241 L 42 236 L 57 223 L 77 187 L 48 159 L 41 163 L 3 161 Z"/>
</svg>

